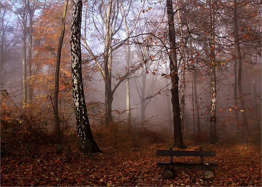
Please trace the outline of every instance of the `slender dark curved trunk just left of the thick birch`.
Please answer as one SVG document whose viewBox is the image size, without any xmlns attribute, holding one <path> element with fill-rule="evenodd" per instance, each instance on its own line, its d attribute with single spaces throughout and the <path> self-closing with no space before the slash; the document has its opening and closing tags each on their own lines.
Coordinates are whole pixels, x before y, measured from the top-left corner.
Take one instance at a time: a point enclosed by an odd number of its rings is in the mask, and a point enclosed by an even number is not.
<svg viewBox="0 0 262 187">
<path fill-rule="evenodd" d="M 54 112 L 55 112 L 55 131 L 59 135 L 59 144 L 61 144 L 61 132 L 60 132 L 60 124 L 59 124 L 59 116 L 58 116 L 58 92 L 59 92 L 59 70 L 60 70 L 60 59 L 61 59 L 61 50 L 63 46 L 63 39 L 65 34 L 65 20 L 66 20 L 66 10 L 68 6 L 68 1 L 66 0 L 64 3 L 64 11 L 62 18 L 62 29 L 59 38 L 57 55 L 56 55 L 56 68 L 55 68 L 55 93 L 54 93 Z"/>
</svg>

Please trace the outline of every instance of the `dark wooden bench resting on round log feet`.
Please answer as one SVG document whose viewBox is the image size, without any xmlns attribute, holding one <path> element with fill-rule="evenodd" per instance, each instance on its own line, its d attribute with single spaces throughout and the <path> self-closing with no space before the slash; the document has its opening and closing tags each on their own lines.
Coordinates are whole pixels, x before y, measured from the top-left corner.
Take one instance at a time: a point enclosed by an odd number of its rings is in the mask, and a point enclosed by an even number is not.
<svg viewBox="0 0 262 187">
<path fill-rule="evenodd" d="M 202 168 L 202 173 L 205 178 L 211 179 L 214 177 L 214 173 L 211 168 L 217 168 L 218 164 L 205 163 L 203 157 L 215 157 L 215 151 L 202 151 L 202 147 L 199 151 L 175 151 L 170 150 L 159 150 L 157 149 L 157 156 L 170 156 L 170 162 L 157 162 L 158 167 L 163 167 L 164 177 L 173 177 L 174 168 Z M 173 162 L 173 156 L 184 156 L 184 157 L 200 157 L 201 162 Z"/>
</svg>

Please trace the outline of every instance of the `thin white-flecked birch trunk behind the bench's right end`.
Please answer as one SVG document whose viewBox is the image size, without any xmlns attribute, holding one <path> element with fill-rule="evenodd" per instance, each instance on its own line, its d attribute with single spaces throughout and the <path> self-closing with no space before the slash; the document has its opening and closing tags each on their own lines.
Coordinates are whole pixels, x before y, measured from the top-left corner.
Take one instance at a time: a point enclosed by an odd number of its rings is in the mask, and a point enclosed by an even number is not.
<svg viewBox="0 0 262 187">
<path fill-rule="evenodd" d="M 209 2 L 211 16 L 210 60 L 211 60 L 211 111 L 209 142 L 215 144 L 216 140 L 216 72 L 215 72 L 215 15 L 214 1 Z"/>
</svg>

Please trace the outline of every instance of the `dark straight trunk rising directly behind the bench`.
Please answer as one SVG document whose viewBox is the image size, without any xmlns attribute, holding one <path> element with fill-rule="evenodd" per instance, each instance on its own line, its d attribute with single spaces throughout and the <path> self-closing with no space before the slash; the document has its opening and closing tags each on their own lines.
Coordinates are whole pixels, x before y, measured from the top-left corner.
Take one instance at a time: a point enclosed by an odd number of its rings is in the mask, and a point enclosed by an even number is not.
<svg viewBox="0 0 262 187">
<path fill-rule="evenodd" d="M 180 105 L 179 105 L 179 92 L 178 92 L 178 62 L 176 53 L 176 41 L 175 41 L 175 27 L 174 27 L 174 12 L 172 1 L 166 1 L 166 9 L 168 16 L 169 26 L 169 43 L 170 43 L 170 77 L 171 77 L 171 94 L 172 94 L 172 106 L 173 106 L 173 121 L 174 121 L 174 145 L 178 148 L 187 148 L 182 139 L 181 119 L 180 119 Z"/>
</svg>

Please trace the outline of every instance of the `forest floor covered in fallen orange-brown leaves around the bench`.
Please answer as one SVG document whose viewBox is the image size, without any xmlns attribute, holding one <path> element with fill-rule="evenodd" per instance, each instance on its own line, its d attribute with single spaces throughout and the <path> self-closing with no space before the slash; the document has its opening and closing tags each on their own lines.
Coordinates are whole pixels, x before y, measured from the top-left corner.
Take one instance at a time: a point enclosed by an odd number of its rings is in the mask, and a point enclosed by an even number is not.
<svg viewBox="0 0 262 187">
<path fill-rule="evenodd" d="M 190 148 L 200 145 L 191 143 Z M 1 157 L 1 186 L 261 186 L 261 146 L 252 144 L 201 144 L 203 150 L 216 151 L 214 178 L 207 180 L 201 169 L 177 169 L 173 178 L 163 177 L 156 162 L 169 157 L 156 156 L 156 149 L 169 144 L 141 147 L 101 147 L 102 154 L 83 154 L 71 146 L 71 157 L 56 155 L 41 146 L 38 154 L 22 151 Z M 199 162 L 199 157 L 178 157 L 176 161 Z"/>
</svg>

